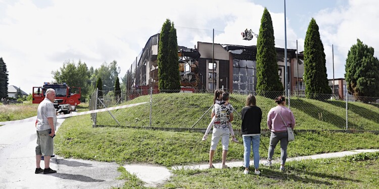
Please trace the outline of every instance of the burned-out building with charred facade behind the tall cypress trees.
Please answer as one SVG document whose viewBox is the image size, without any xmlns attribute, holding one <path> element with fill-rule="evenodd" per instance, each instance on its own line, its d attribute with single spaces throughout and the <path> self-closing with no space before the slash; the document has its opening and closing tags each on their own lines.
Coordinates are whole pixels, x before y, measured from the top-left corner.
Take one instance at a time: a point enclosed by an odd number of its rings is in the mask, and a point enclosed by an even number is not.
<svg viewBox="0 0 379 189">
<path fill-rule="evenodd" d="M 127 71 L 128 89 L 158 88 L 159 34 L 149 38 L 145 48 L 136 57 Z M 197 47 L 197 48 L 196 48 Z M 283 48 L 276 48 L 278 75 L 285 84 Z M 256 46 L 222 45 L 198 42 L 194 49 L 178 46 L 178 64 L 183 88 L 213 91 L 227 89 L 230 92 L 249 93 L 256 89 Z M 296 49 L 287 49 L 288 78 L 291 91 L 302 89 L 304 64 L 302 54 L 296 61 Z M 296 66 L 296 62 L 298 65 Z M 300 62 L 300 64 L 299 64 Z M 295 67 L 294 67 L 295 65 Z M 292 68 L 292 69 L 291 69 Z M 298 83 L 299 82 L 299 83 Z"/>
</svg>

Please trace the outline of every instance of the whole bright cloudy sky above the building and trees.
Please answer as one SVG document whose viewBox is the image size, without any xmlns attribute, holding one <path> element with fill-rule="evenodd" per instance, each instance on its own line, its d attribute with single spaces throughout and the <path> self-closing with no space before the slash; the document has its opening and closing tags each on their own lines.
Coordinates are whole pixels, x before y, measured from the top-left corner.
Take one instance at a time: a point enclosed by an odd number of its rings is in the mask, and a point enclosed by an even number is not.
<svg viewBox="0 0 379 189">
<path fill-rule="evenodd" d="M 242 40 L 246 28 L 258 33 L 264 8 L 271 14 L 276 47 L 285 47 L 284 1 L 73 1 L 0 0 L 0 57 L 9 71 L 9 84 L 26 93 L 54 81 L 52 71 L 65 61 L 81 60 L 100 68 L 117 61 L 120 79 L 150 36 L 166 19 L 177 29 L 178 45 L 194 48 L 198 41 L 256 45 Z M 328 78 L 343 78 L 345 61 L 357 38 L 379 51 L 379 1 L 287 0 L 287 48 L 304 49 L 308 24 L 319 26 Z M 333 44 L 333 50 L 332 50 Z M 334 59 L 332 55 L 334 51 Z"/>
</svg>

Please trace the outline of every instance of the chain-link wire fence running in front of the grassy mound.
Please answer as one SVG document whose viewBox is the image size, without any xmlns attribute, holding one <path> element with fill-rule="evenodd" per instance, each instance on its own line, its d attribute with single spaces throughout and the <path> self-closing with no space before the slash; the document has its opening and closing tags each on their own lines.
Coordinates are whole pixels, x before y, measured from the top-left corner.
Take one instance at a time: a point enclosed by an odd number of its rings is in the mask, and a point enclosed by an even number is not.
<svg viewBox="0 0 379 189">
<path fill-rule="evenodd" d="M 261 129 L 267 129 L 268 111 L 274 99 L 283 92 L 232 92 L 229 102 L 234 107 L 232 128 L 241 128 L 241 110 L 248 94 L 257 98 L 262 109 Z M 204 91 L 129 90 L 98 91 L 90 99 L 90 109 L 149 102 L 130 108 L 92 113 L 94 126 L 127 126 L 165 130 L 205 131 L 211 121 L 213 93 Z M 379 97 L 339 99 L 330 94 L 313 94 L 312 99 L 292 94 L 287 106 L 293 111 L 298 130 L 379 130 Z"/>
</svg>

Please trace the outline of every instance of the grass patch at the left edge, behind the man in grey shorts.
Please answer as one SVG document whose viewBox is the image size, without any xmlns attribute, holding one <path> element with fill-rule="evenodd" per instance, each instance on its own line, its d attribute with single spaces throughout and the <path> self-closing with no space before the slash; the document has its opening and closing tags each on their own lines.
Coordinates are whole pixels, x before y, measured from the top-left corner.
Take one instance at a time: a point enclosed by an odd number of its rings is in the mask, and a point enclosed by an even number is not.
<svg viewBox="0 0 379 189">
<path fill-rule="evenodd" d="M 0 105 L 0 121 L 13 121 L 37 115 L 38 104 L 24 101 L 22 104 Z"/>
</svg>

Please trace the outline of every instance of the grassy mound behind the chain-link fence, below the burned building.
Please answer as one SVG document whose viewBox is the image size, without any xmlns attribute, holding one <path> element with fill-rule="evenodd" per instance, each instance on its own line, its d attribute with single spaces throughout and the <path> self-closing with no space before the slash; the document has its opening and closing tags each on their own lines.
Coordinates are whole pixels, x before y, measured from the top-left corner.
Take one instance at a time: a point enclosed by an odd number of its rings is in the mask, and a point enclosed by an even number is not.
<svg viewBox="0 0 379 189">
<path fill-rule="evenodd" d="M 191 128 L 192 125 L 213 104 L 212 94 L 160 93 L 153 95 L 152 127 Z M 124 104 L 148 102 L 150 96 L 141 96 Z M 240 113 L 245 105 L 246 95 L 231 94 L 230 103 Z M 276 104 L 272 99 L 257 96 L 257 106 L 262 109 L 261 128 L 266 129 L 266 116 Z M 379 130 L 379 108 L 370 104 L 349 102 L 350 130 Z M 305 98 L 292 98 L 291 109 L 296 119 L 296 129 L 346 128 L 345 102 L 336 100 L 318 101 Z M 111 111 L 121 125 L 147 127 L 150 123 L 150 104 Z M 207 112 L 195 128 L 206 128 L 211 112 Z M 98 125 L 117 125 L 108 112 L 98 113 Z M 233 129 L 240 129 L 241 117 L 234 113 Z"/>
</svg>

